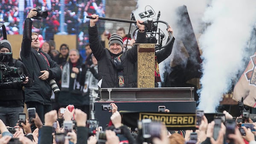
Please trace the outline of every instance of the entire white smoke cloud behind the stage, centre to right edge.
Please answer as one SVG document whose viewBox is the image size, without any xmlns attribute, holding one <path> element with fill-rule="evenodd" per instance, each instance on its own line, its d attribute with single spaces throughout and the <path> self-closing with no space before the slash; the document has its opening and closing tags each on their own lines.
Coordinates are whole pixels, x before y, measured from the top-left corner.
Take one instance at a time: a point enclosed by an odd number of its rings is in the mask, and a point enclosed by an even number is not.
<svg viewBox="0 0 256 144">
<path fill-rule="evenodd" d="M 154 9 L 156 15 L 161 12 L 160 20 L 171 25 L 174 36 L 182 35 L 175 31 L 175 9 L 179 6 L 186 5 L 195 35 L 204 29 L 202 23 L 211 23 L 198 40 L 203 51 L 202 87 L 198 91 L 201 102 L 198 108 L 215 112 L 222 95 L 230 89 L 231 80 L 243 68 L 242 59 L 248 56 L 244 55 L 244 48 L 255 24 L 256 0 L 138 0 L 138 8 L 134 11 L 136 20 L 140 19 L 138 14 L 144 12 L 147 5 Z M 165 65 L 169 63 L 160 63 L 161 76 Z"/>
</svg>

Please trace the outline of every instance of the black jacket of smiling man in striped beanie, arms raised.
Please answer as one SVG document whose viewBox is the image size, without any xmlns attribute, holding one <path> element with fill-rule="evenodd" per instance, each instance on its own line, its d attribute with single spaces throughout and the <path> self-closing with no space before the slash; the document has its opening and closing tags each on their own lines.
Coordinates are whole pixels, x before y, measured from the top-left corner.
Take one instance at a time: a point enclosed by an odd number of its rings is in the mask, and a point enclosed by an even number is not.
<svg viewBox="0 0 256 144">
<path fill-rule="evenodd" d="M 117 69 L 113 65 L 111 58 L 111 52 L 107 48 L 103 48 L 99 37 L 97 26 L 89 26 L 89 42 L 93 55 L 98 60 L 98 79 L 102 79 L 102 88 L 106 87 L 119 87 Z M 145 43 L 146 33 L 137 34 L 137 43 Z M 123 52 L 121 56 L 121 62 L 123 66 L 123 77 L 125 81 L 125 87 L 132 87 L 133 85 L 133 72 L 134 63 L 137 61 L 137 45 L 133 48 Z"/>
</svg>

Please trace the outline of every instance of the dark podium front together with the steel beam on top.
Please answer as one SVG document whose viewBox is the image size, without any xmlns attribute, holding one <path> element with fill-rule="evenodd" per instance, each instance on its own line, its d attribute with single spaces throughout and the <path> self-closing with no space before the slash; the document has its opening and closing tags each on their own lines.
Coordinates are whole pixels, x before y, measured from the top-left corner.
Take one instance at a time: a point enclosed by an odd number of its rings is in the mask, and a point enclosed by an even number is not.
<svg viewBox="0 0 256 144">
<path fill-rule="evenodd" d="M 194 87 L 166 88 L 102 88 L 101 100 L 95 103 L 95 118 L 103 128 L 111 112 L 102 110 L 102 104 L 115 103 L 118 111 L 157 112 L 166 106 L 170 112 L 193 113 L 196 109 Z"/>
</svg>

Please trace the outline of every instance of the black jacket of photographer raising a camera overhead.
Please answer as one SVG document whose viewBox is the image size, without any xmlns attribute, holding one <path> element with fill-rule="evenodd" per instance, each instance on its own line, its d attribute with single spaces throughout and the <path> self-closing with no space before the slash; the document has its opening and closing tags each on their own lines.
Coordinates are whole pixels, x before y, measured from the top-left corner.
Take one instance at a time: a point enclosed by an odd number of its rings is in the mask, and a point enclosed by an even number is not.
<svg viewBox="0 0 256 144">
<path fill-rule="evenodd" d="M 32 35 L 32 20 L 26 18 L 24 22 L 23 40 L 21 44 L 20 58 L 34 79 L 34 85 L 25 89 L 25 103 L 36 101 L 44 105 L 51 105 L 52 88 L 49 85 L 49 80 L 61 78 L 61 68 L 55 63 L 48 54 L 45 54 L 41 49 L 39 51 L 31 47 Z M 49 62 L 44 58 L 47 58 Z M 40 71 L 47 70 L 49 78 L 44 81 L 38 77 L 42 75 Z M 57 81 L 56 80 L 56 81 Z"/>
</svg>

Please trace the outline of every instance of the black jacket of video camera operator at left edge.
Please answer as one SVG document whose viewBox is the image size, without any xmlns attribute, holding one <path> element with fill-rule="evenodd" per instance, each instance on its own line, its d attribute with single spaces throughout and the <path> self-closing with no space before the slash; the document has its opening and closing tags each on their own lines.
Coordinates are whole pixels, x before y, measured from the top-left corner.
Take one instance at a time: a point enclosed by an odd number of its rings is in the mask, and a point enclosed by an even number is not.
<svg viewBox="0 0 256 144">
<path fill-rule="evenodd" d="M 23 74 L 29 77 L 29 81 L 26 84 L 22 82 L 16 82 L 11 84 L 4 84 L 0 86 L 0 106 L 2 107 L 18 107 L 24 106 L 24 92 L 23 86 L 31 87 L 34 84 L 34 80 L 27 71 L 25 65 L 20 61 L 13 59 L 8 63 L 8 66 L 14 66 L 15 68 L 21 68 Z M 13 76 L 12 76 L 13 77 Z M 15 76 L 16 78 L 16 76 Z"/>
</svg>

